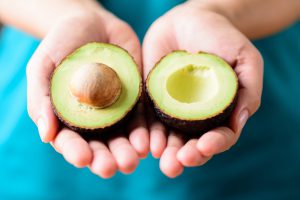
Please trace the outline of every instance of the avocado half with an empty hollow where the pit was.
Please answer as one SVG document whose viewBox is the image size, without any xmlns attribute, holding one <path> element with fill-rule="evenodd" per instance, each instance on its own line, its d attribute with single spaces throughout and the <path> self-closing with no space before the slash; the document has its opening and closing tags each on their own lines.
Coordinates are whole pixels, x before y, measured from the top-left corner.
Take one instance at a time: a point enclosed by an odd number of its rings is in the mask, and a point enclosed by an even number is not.
<svg viewBox="0 0 300 200">
<path fill-rule="evenodd" d="M 223 125 L 237 100 L 238 79 L 220 57 L 174 51 L 163 57 L 146 80 L 157 117 L 192 135 Z"/>
</svg>

